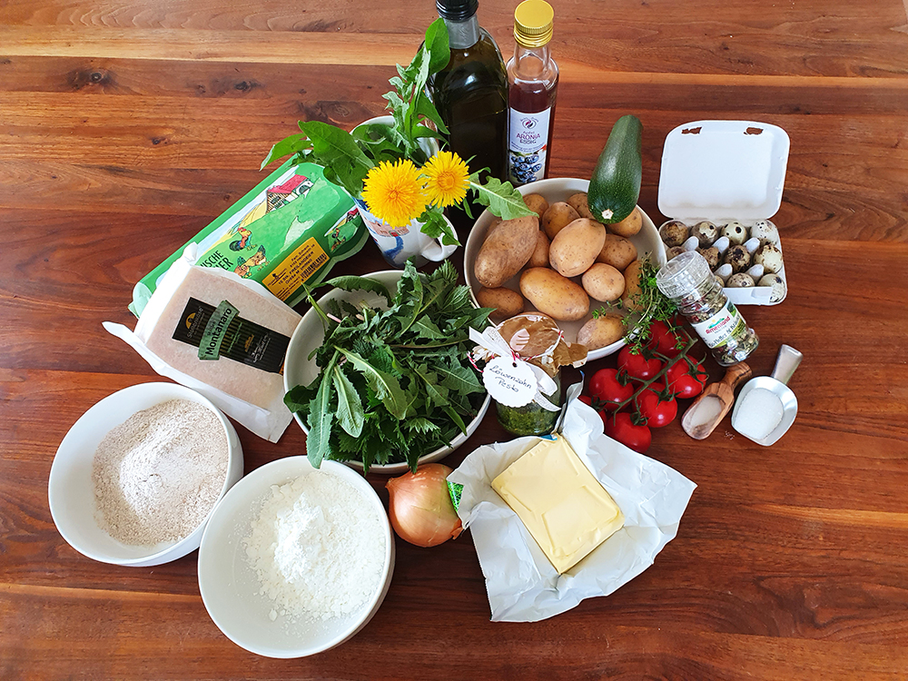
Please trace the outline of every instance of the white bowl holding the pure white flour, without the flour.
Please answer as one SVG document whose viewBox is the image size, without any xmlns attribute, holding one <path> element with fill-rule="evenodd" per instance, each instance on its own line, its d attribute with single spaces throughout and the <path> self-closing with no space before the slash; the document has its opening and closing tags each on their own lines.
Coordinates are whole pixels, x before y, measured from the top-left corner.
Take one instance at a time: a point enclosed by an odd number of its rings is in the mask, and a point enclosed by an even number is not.
<svg viewBox="0 0 908 681">
<path fill-rule="evenodd" d="M 360 489 L 365 503 L 379 514 L 385 538 L 385 559 L 375 594 L 359 612 L 318 624 L 302 617 L 271 620 L 274 604 L 259 593 L 259 578 L 249 565 L 242 544 L 252 532 L 252 521 L 271 494 L 271 486 L 302 475 L 333 475 Z M 315 470 L 305 457 L 271 461 L 240 480 L 215 509 L 199 549 L 199 590 L 208 614 L 237 646 L 267 657 L 303 657 L 339 646 L 378 612 L 393 571 L 394 537 L 375 490 L 353 469 L 335 461 L 322 461 L 321 469 Z"/>
</svg>

